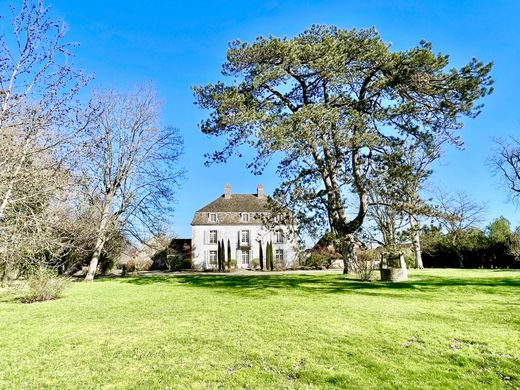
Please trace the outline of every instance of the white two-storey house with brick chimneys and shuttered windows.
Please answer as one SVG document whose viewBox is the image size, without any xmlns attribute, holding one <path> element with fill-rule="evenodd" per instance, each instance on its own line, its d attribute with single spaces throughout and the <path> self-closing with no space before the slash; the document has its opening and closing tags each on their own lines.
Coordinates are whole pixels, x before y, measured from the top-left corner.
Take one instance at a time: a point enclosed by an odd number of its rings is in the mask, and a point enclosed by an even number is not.
<svg viewBox="0 0 520 390">
<path fill-rule="evenodd" d="M 296 259 L 298 240 L 289 226 L 282 223 L 267 227 L 267 219 L 276 221 L 267 206 L 263 186 L 256 194 L 232 194 L 224 186 L 224 194 L 195 212 L 192 226 L 192 262 L 195 268 L 217 266 L 218 242 L 224 240 L 226 260 L 228 243 L 237 268 L 254 268 L 259 263 L 260 246 L 266 256 L 266 244 L 273 243 L 273 260 L 277 268 L 291 267 Z M 271 226 L 272 225 L 272 226 Z"/>
</svg>

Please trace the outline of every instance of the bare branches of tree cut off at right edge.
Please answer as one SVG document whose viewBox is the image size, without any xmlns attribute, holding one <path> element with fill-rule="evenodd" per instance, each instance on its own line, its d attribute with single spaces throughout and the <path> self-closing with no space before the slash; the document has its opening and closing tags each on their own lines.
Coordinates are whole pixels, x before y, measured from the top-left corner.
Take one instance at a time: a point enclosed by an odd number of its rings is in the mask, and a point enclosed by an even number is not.
<svg viewBox="0 0 520 390">
<path fill-rule="evenodd" d="M 511 191 L 511 196 L 516 199 L 520 196 L 520 140 L 511 137 L 510 142 L 497 140 L 495 144 L 491 162 Z"/>
</svg>

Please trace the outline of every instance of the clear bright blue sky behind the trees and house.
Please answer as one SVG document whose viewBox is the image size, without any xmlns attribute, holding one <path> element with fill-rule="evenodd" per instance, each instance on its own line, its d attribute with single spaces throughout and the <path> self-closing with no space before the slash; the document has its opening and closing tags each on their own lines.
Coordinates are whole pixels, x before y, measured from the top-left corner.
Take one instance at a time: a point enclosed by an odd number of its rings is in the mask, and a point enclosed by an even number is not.
<svg viewBox="0 0 520 390">
<path fill-rule="evenodd" d="M 5 0 L 2 10 L 5 10 Z M 68 39 L 77 41 L 76 63 L 95 74 L 91 87 L 126 88 L 153 81 L 164 99 L 163 122 L 178 127 L 185 138 L 182 164 L 188 177 L 178 193 L 174 231 L 191 234 L 193 212 L 223 192 L 266 192 L 277 184 L 273 170 L 255 177 L 235 159 L 203 166 L 203 154 L 219 141 L 198 130 L 206 113 L 193 105 L 190 86 L 215 82 L 229 41 L 251 41 L 258 35 L 293 36 L 313 23 L 341 28 L 375 26 L 395 49 L 421 39 L 450 54 L 461 66 L 477 57 L 493 61 L 495 93 L 484 101 L 476 120 L 462 132 L 464 150 L 451 148 L 435 167 L 434 182 L 488 202 L 488 221 L 505 215 L 520 224 L 517 209 L 490 173 L 486 160 L 495 136 L 518 134 L 520 1 L 70 1 L 54 0 L 52 12 L 67 23 Z"/>
</svg>

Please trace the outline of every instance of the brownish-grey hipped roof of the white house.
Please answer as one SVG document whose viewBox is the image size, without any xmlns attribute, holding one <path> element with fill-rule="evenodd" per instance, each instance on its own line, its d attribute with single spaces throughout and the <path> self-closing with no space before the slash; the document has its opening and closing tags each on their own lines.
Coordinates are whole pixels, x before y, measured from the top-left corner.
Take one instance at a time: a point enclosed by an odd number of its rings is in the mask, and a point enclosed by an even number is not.
<svg viewBox="0 0 520 390">
<path fill-rule="evenodd" d="M 250 213 L 249 224 L 261 223 L 260 213 L 269 213 L 267 198 L 260 199 L 256 194 L 232 194 L 226 199 L 219 196 L 213 202 L 207 204 L 195 212 L 192 225 L 234 225 L 248 224 L 241 222 L 241 213 Z M 217 213 L 217 222 L 208 220 L 209 213 Z"/>
</svg>

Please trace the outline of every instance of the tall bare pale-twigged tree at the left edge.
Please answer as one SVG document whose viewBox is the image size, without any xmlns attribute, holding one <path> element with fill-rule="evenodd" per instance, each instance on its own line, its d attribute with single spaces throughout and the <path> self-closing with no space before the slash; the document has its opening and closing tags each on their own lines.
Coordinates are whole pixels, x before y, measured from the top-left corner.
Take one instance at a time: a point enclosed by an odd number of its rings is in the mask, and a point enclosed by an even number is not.
<svg viewBox="0 0 520 390">
<path fill-rule="evenodd" d="M 20 10 L 11 7 L 11 12 L 11 24 L 2 26 L 0 36 L 0 274 L 4 275 L 24 262 L 47 262 L 70 249 L 57 215 L 63 216 L 71 202 L 64 160 L 78 131 L 75 98 L 89 79 L 75 69 L 75 45 L 64 41 L 63 23 L 49 15 L 42 1 L 23 0 Z"/>
</svg>

